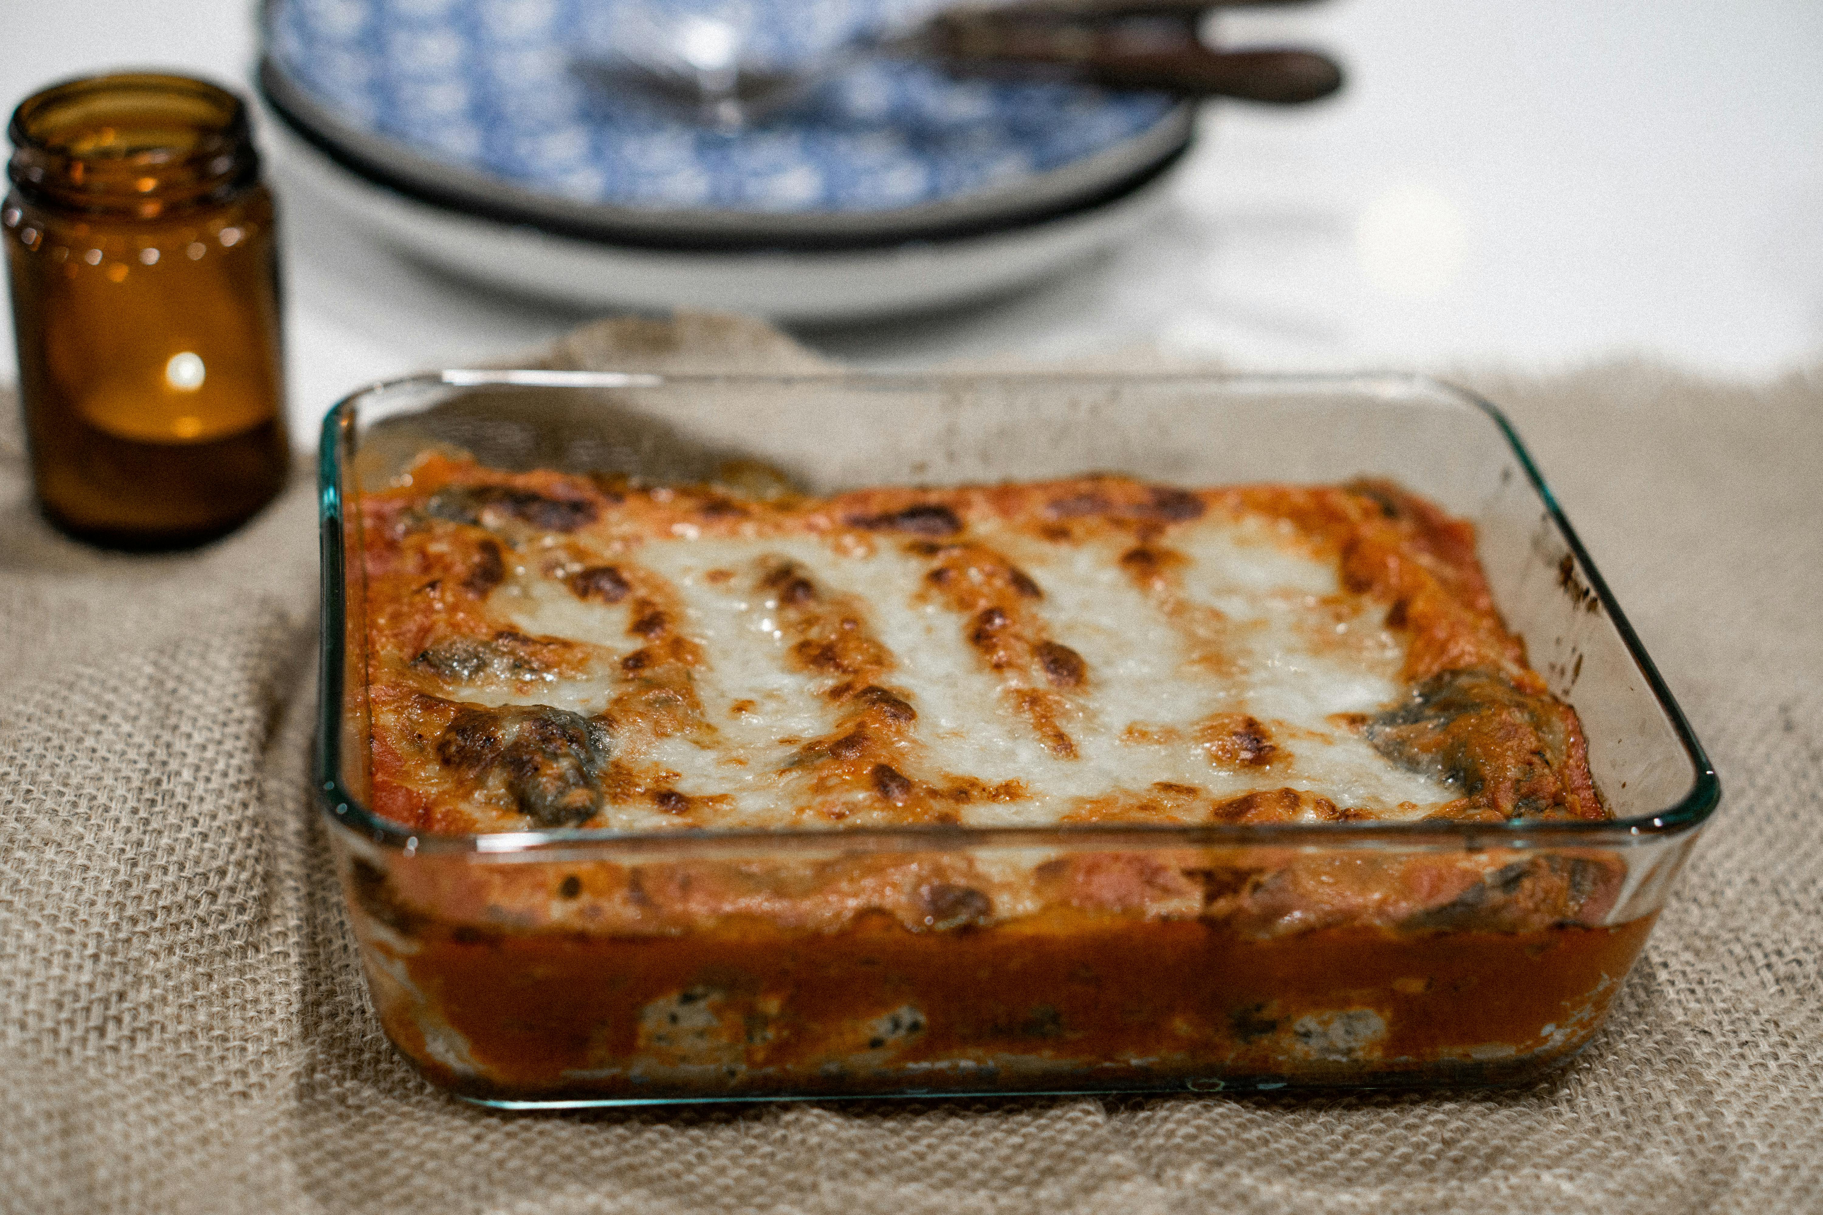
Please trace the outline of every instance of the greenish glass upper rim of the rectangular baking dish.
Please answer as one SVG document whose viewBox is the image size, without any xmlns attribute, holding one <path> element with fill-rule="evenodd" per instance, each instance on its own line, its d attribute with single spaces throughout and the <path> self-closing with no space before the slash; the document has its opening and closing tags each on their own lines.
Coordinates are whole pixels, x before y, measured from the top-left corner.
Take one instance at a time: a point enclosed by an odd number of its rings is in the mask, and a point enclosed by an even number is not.
<svg viewBox="0 0 1823 1215">
<path fill-rule="evenodd" d="M 407 386 L 527 386 L 527 388 L 665 388 L 665 386 L 789 386 L 815 383 L 820 386 L 857 388 L 955 388 L 963 384 L 1189 384 L 1201 383 L 1229 390 L 1351 390 L 1362 395 L 1424 393 L 1478 410 L 1506 441 L 1515 461 L 1524 470 L 1533 492 L 1544 505 L 1551 525 L 1564 537 L 1582 576 L 1601 601 L 1602 612 L 1613 623 L 1628 658 L 1644 676 L 1646 689 L 1664 712 L 1692 767 L 1688 792 L 1672 807 L 1624 820 L 1599 822 L 1537 822 L 1506 820 L 1499 823 L 1457 823 L 1426 820 L 1416 823 L 1269 823 L 1269 825 L 1181 825 L 1181 823 L 1070 823 L 1050 827 L 961 827 L 961 825 L 904 825 L 870 829 L 685 829 L 685 831 L 611 831 L 611 829 L 556 829 L 436 834 L 396 823 L 363 805 L 341 781 L 343 694 L 346 670 L 346 550 L 345 512 L 341 492 L 339 439 L 350 426 L 357 404 Z M 930 853 L 979 847 L 1068 847 L 1096 849 L 1158 849 L 1158 847 L 1595 847 L 1668 840 L 1699 829 L 1721 801 L 1721 780 L 1708 752 L 1692 730 L 1688 718 L 1666 687 L 1657 665 L 1646 652 L 1632 623 L 1615 601 L 1608 581 L 1595 568 L 1582 539 L 1564 516 L 1557 495 L 1539 472 L 1531 452 L 1506 414 L 1475 392 L 1457 384 L 1407 372 L 1365 373 L 1207 373 L 1207 372 L 793 372 L 793 373 L 653 373 L 653 372 L 558 372 L 516 368 L 448 368 L 421 372 L 396 379 L 376 381 L 335 403 L 323 417 L 317 457 L 317 526 L 321 539 L 321 612 L 319 612 L 319 672 L 317 672 L 317 747 L 315 785 L 324 818 L 359 831 L 372 843 L 407 856 L 421 853 L 459 853 L 510 860 L 558 860 L 560 856 L 611 851 L 616 854 L 689 853 L 707 860 L 711 854 L 749 854 L 755 847 L 782 853 L 829 851 L 893 851 Z"/>
</svg>

